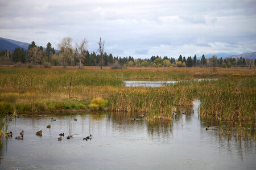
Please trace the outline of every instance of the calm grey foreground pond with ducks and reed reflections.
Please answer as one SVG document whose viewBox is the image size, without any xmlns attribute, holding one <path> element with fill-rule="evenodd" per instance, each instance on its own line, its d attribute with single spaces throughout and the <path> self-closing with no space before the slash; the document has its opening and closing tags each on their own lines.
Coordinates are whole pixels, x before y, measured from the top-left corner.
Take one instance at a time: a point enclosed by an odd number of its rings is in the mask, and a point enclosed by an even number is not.
<svg viewBox="0 0 256 170">
<path fill-rule="evenodd" d="M 198 104 L 171 122 L 125 113 L 20 116 L 9 122 L 13 138 L 1 141 L 0 169 L 255 169 L 256 142 L 220 137 L 218 121 L 200 120 Z"/>
</svg>

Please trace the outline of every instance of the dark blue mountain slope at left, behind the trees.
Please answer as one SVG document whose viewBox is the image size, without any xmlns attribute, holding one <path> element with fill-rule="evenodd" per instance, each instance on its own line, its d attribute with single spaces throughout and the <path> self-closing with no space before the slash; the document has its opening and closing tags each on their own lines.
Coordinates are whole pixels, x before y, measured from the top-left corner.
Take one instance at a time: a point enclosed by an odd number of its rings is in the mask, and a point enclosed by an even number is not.
<svg viewBox="0 0 256 170">
<path fill-rule="evenodd" d="M 28 45 L 30 44 L 26 42 L 20 42 L 0 37 L 0 50 L 10 50 L 13 52 L 13 50 L 17 47 L 27 50 Z"/>
</svg>

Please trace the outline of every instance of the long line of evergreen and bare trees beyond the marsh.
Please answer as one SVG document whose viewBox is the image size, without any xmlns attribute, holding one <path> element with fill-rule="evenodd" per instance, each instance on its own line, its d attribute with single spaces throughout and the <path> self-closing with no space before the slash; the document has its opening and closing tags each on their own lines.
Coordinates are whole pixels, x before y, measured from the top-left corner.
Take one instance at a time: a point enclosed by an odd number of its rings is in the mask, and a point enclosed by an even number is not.
<svg viewBox="0 0 256 170">
<path fill-rule="evenodd" d="M 13 52 L 9 50 L 0 51 L 1 63 L 23 63 L 30 65 L 43 65 L 44 67 L 51 66 L 112 66 L 113 69 L 122 67 L 245 67 L 256 66 L 256 59 L 245 58 L 217 58 L 213 56 L 205 58 L 204 54 L 201 58 L 179 56 L 178 59 L 173 57 L 152 56 L 151 58 L 138 58 L 134 57 L 115 57 L 111 53 L 104 52 L 104 41 L 100 39 L 98 42 L 99 48 L 97 52 L 89 53 L 86 49 L 87 40 L 84 38 L 80 44 L 76 44 L 75 48 L 72 46 L 72 39 L 64 37 L 58 45 L 59 52 L 55 52 L 50 42 L 46 48 L 36 46 L 32 41 L 27 49 L 15 48 Z"/>
</svg>

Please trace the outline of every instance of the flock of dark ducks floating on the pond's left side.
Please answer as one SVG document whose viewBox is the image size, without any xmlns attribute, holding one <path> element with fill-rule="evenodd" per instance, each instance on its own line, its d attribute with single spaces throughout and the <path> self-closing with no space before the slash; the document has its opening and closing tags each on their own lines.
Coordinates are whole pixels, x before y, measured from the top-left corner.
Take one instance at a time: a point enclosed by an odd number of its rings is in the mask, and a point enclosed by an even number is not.
<svg viewBox="0 0 256 170">
<path fill-rule="evenodd" d="M 18 118 L 19 116 L 16 116 L 16 117 Z M 12 121 L 11 118 L 6 118 L 6 120 Z M 56 119 L 51 118 L 51 121 L 52 122 L 56 121 Z M 77 121 L 77 119 L 74 118 L 74 121 Z M 51 125 L 47 125 L 46 128 L 51 128 Z M 35 134 L 42 137 L 42 133 L 43 133 L 43 131 L 39 130 Z M 22 131 L 20 131 L 20 136 L 15 137 L 15 139 L 23 139 L 23 135 L 24 135 L 24 131 L 22 130 Z M 59 135 L 60 135 L 60 137 L 58 138 L 58 141 L 61 141 L 62 138 L 64 138 L 64 133 L 60 133 Z M 13 137 L 13 132 L 10 131 L 10 133 L 6 133 L 6 137 L 12 138 Z M 67 136 L 67 139 L 71 139 L 71 138 L 73 138 L 73 135 L 68 135 Z M 87 141 L 88 139 L 90 139 L 90 140 L 92 139 L 92 134 L 88 135 L 86 138 L 83 138 L 83 140 L 85 140 L 85 141 Z"/>
</svg>

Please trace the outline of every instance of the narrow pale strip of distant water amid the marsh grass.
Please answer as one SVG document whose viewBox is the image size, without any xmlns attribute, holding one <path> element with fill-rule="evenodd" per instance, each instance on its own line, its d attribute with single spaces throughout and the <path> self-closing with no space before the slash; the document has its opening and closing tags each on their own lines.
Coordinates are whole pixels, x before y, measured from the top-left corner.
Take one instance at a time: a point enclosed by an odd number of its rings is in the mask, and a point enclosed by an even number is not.
<svg viewBox="0 0 256 170">
<path fill-rule="evenodd" d="M 193 79 L 194 81 L 203 81 L 203 80 L 217 80 L 217 79 Z M 123 81 L 126 87 L 161 87 L 170 84 L 175 84 L 181 81 L 187 80 L 179 80 L 179 81 Z"/>
</svg>

